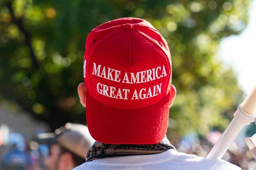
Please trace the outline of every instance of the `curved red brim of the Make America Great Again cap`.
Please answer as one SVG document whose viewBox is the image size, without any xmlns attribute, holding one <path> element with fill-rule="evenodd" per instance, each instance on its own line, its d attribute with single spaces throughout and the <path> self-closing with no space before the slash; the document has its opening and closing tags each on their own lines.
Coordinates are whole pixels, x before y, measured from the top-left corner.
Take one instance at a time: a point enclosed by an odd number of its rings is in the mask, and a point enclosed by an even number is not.
<svg viewBox="0 0 256 170">
<path fill-rule="evenodd" d="M 159 143 L 167 131 L 170 97 L 168 93 L 159 102 L 145 108 L 121 109 L 102 104 L 86 92 L 89 132 L 102 143 Z"/>
</svg>

